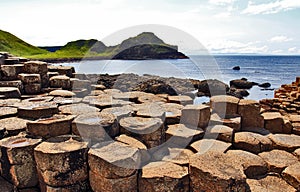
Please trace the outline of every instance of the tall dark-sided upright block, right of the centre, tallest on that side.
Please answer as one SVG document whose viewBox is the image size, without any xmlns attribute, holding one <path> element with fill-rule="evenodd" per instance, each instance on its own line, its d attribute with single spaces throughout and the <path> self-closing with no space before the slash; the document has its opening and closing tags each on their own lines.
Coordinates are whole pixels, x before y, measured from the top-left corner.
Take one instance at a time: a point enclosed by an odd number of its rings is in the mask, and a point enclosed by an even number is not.
<svg viewBox="0 0 300 192">
<path fill-rule="evenodd" d="M 240 100 L 238 114 L 242 117 L 242 130 L 246 127 L 264 127 L 264 117 L 260 115 L 260 104 L 254 100 Z"/>
</svg>

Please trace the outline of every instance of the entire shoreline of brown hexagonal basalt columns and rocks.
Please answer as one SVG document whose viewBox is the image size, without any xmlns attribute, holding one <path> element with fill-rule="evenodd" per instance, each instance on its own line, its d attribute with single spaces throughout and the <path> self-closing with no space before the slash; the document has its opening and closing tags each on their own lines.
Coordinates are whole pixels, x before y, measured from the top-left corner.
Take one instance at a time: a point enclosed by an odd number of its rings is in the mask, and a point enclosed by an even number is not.
<svg viewBox="0 0 300 192">
<path fill-rule="evenodd" d="M 299 77 L 258 102 L 237 81 L 0 65 L 0 191 L 300 190 Z"/>
</svg>

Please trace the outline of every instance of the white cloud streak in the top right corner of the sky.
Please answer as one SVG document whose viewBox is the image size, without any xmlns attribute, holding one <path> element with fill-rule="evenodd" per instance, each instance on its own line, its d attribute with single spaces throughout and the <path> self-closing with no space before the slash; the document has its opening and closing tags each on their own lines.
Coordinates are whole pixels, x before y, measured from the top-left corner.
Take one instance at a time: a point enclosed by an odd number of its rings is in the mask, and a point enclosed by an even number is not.
<svg viewBox="0 0 300 192">
<path fill-rule="evenodd" d="M 297 8 L 300 8 L 299 0 L 277 0 L 265 4 L 254 4 L 252 1 L 249 1 L 248 7 L 242 13 L 250 15 L 274 14 Z"/>
</svg>

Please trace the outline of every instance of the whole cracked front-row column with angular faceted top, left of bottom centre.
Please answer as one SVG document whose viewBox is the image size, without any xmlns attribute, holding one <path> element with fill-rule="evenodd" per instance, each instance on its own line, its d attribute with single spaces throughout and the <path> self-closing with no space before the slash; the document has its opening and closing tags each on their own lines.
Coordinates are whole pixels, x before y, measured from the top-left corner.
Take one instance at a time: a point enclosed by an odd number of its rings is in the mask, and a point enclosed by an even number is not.
<svg viewBox="0 0 300 192">
<path fill-rule="evenodd" d="M 106 142 L 89 150 L 90 184 L 93 191 L 136 191 L 138 149 L 120 142 Z"/>
</svg>

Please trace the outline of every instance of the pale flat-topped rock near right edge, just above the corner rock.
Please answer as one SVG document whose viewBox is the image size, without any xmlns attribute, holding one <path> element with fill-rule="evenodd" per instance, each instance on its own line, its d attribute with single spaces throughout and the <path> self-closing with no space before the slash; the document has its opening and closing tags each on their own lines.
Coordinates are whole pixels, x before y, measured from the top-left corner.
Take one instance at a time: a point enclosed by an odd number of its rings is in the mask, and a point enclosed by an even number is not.
<svg viewBox="0 0 300 192">
<path fill-rule="evenodd" d="M 258 154 L 267 164 L 270 172 L 281 173 L 286 167 L 298 162 L 291 153 L 274 149 Z"/>
</svg>

